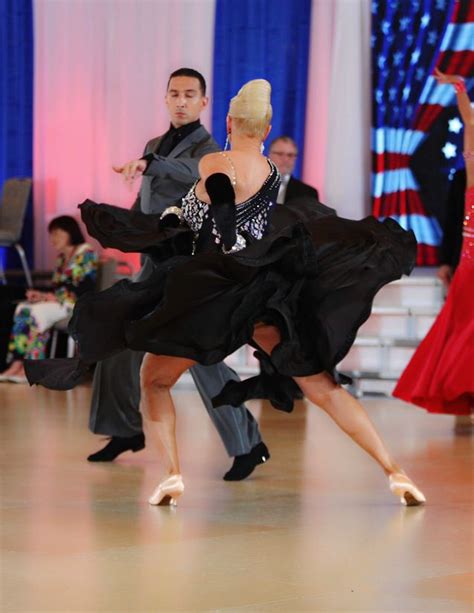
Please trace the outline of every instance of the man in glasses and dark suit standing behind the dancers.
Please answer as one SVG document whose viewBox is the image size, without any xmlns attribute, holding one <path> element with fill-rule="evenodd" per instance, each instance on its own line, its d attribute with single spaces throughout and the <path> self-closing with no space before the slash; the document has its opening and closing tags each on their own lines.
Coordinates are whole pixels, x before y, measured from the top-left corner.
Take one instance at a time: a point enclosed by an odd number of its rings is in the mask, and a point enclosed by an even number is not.
<svg viewBox="0 0 474 613">
<path fill-rule="evenodd" d="M 314 198 L 319 200 L 318 190 L 295 179 L 292 172 L 298 157 L 298 147 L 289 136 L 278 136 L 270 143 L 268 157 L 280 171 L 281 184 L 277 203 L 285 204 L 296 198 Z"/>
</svg>

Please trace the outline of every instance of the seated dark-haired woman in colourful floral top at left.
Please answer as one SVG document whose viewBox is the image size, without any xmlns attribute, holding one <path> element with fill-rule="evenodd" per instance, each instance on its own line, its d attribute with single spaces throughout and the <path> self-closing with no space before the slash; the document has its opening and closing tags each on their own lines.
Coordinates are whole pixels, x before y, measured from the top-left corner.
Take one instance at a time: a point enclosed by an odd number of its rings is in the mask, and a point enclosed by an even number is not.
<svg viewBox="0 0 474 613">
<path fill-rule="evenodd" d="M 26 381 L 23 360 L 46 357 L 51 327 L 71 314 L 78 296 L 95 288 L 97 254 L 85 242 L 77 221 L 68 215 L 56 217 L 48 233 L 58 252 L 52 278 L 54 291 L 29 289 L 26 302 L 17 306 L 9 344 L 10 365 L 0 375 L 2 381 Z"/>
</svg>

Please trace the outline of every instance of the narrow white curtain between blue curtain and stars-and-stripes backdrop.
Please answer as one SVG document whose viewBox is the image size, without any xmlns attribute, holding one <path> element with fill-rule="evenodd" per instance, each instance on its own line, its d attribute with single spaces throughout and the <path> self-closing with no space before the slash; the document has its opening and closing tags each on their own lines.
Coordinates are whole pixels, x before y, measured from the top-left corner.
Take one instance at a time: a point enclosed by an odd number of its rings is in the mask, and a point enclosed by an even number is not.
<svg viewBox="0 0 474 613">
<path fill-rule="evenodd" d="M 370 2 L 313 0 L 303 180 L 342 217 L 370 213 Z"/>
</svg>

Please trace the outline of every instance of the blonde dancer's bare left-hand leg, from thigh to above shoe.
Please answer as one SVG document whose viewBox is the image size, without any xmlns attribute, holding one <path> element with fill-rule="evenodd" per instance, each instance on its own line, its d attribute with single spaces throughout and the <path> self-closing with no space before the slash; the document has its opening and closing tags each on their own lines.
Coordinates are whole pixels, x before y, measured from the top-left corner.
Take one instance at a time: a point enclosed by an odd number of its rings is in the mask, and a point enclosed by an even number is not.
<svg viewBox="0 0 474 613">
<path fill-rule="evenodd" d="M 148 434 L 161 452 L 166 475 L 180 473 L 176 443 L 176 413 L 170 390 L 195 362 L 147 353 L 140 370 L 140 410 Z"/>
</svg>

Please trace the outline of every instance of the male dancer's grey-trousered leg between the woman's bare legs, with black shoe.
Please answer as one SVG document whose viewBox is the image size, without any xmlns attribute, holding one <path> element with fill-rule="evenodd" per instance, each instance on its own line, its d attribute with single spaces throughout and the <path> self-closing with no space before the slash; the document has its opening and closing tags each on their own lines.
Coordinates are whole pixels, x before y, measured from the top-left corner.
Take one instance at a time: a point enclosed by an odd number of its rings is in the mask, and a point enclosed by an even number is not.
<svg viewBox="0 0 474 613">
<path fill-rule="evenodd" d="M 237 373 L 224 362 L 212 366 L 197 364 L 189 372 L 227 453 L 235 457 L 234 464 L 224 475 L 224 479 L 245 479 L 258 464 L 270 458 L 268 449 L 262 442 L 258 424 L 245 406 L 226 405 L 214 408 L 211 402 L 227 381 L 239 381 Z"/>
</svg>

